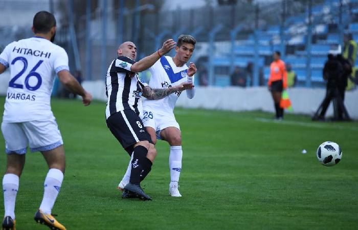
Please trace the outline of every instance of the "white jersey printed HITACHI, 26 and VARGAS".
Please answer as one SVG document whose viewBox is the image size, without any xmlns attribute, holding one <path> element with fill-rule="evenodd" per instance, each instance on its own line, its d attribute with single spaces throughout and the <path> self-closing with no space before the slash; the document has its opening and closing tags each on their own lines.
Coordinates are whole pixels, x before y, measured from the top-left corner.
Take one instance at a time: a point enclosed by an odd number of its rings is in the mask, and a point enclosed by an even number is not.
<svg viewBox="0 0 358 230">
<path fill-rule="evenodd" d="M 69 70 L 63 48 L 42 37 L 14 41 L 0 54 L 0 63 L 10 67 L 4 122 L 53 118 L 51 92 L 54 72 Z"/>
</svg>

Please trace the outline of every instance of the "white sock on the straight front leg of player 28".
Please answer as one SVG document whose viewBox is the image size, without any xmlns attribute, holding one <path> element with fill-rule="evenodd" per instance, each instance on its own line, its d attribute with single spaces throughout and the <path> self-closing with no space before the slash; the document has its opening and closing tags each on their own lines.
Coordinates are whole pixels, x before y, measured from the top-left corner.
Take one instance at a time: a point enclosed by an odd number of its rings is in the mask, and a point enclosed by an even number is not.
<svg viewBox="0 0 358 230">
<path fill-rule="evenodd" d="M 171 146 L 169 155 L 170 184 L 178 183 L 182 171 L 182 146 Z"/>
</svg>

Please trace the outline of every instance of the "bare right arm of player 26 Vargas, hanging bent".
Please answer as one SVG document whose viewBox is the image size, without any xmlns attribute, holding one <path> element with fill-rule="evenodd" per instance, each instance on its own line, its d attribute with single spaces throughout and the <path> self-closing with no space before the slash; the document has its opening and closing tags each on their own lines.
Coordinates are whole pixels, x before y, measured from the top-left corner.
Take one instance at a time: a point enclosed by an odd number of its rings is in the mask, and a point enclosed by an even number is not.
<svg viewBox="0 0 358 230">
<path fill-rule="evenodd" d="M 61 70 L 57 73 L 60 81 L 68 88 L 72 93 L 78 94 L 82 97 L 84 106 L 88 106 L 91 103 L 92 95 L 85 91 L 80 83 L 68 70 Z"/>
</svg>

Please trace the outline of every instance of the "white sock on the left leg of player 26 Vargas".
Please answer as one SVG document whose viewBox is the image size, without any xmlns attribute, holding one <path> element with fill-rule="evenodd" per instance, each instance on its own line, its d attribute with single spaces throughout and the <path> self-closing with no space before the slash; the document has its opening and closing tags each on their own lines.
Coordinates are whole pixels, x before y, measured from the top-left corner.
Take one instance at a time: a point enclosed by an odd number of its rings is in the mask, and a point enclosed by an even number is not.
<svg viewBox="0 0 358 230">
<path fill-rule="evenodd" d="M 18 190 L 18 181 L 18 176 L 12 173 L 5 174 L 3 178 L 4 217 L 10 216 L 13 220 L 15 219 L 15 201 Z"/>
</svg>

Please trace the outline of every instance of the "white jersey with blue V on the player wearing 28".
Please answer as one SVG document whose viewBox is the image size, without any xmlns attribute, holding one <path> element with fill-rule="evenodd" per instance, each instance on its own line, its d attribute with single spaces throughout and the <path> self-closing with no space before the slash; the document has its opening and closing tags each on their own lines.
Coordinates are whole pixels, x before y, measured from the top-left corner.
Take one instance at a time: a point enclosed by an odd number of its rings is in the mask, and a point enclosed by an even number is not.
<svg viewBox="0 0 358 230">
<path fill-rule="evenodd" d="M 188 66 L 184 64 L 182 67 L 177 67 L 169 56 L 161 57 L 149 68 L 149 71 L 151 73 L 149 87 L 152 89 L 167 89 L 188 81 Z M 175 92 L 158 100 L 143 98 L 143 110 L 173 115 L 176 100 L 181 94 L 182 92 Z"/>
</svg>

